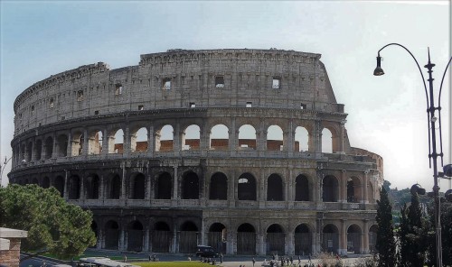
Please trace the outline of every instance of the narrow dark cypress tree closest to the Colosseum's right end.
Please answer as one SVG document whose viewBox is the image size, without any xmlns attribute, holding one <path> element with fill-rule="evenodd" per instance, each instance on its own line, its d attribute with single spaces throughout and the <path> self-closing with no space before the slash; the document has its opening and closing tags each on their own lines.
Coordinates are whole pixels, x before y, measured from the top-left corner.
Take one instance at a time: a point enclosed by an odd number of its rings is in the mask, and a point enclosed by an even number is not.
<svg viewBox="0 0 452 267">
<path fill-rule="evenodd" d="M 377 200 L 377 242 L 378 266 L 392 267 L 396 265 L 396 244 L 392 226 L 392 207 L 385 187 L 380 190 L 380 200 Z"/>
</svg>

